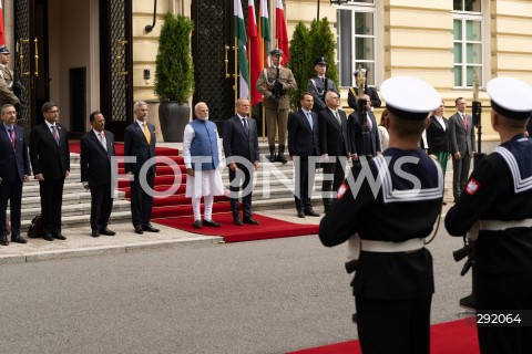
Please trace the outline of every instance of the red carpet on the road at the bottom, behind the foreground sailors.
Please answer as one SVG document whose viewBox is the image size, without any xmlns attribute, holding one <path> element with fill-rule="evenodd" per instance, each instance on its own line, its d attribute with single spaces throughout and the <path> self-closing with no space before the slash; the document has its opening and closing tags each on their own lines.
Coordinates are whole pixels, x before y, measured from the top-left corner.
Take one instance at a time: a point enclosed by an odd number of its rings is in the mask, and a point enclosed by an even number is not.
<svg viewBox="0 0 532 354">
<path fill-rule="evenodd" d="M 358 341 L 319 346 L 287 354 L 360 354 Z M 477 326 L 468 320 L 439 323 L 430 326 L 431 354 L 478 354 Z M 391 354 L 391 353 L 390 353 Z"/>
</svg>

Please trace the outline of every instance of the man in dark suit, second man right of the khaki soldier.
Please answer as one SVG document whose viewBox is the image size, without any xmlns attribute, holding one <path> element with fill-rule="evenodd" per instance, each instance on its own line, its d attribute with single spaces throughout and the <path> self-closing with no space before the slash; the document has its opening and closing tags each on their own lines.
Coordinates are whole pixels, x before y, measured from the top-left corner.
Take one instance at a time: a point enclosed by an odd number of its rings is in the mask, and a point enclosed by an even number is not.
<svg viewBox="0 0 532 354">
<path fill-rule="evenodd" d="M 338 191 L 346 177 L 347 159 L 349 158 L 349 133 L 346 112 L 339 110 L 338 95 L 331 91 L 325 95 L 327 110 L 318 115 L 319 152 L 324 175 L 334 174 L 334 180 L 324 176 L 321 192 L 325 212 L 332 202 L 332 192 Z"/>
</svg>

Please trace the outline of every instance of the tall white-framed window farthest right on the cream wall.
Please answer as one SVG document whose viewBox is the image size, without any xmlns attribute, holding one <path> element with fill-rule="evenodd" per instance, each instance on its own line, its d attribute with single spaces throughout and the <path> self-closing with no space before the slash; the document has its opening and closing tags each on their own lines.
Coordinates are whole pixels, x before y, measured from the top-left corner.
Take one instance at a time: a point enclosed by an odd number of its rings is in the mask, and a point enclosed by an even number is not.
<svg viewBox="0 0 532 354">
<path fill-rule="evenodd" d="M 472 87 L 477 74 L 479 85 L 483 77 L 482 9 L 481 0 L 454 0 L 454 86 Z"/>
</svg>

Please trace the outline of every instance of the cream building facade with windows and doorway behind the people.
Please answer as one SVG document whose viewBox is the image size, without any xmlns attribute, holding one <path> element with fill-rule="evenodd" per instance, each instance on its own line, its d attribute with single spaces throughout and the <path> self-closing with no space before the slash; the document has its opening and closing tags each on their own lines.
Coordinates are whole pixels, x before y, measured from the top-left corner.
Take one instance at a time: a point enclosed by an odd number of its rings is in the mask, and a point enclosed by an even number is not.
<svg viewBox="0 0 532 354">
<path fill-rule="evenodd" d="M 259 0 L 255 0 L 258 9 Z M 479 77 L 484 138 L 489 124 L 485 83 L 497 76 L 532 84 L 532 1 L 523 0 L 285 0 L 288 34 L 298 21 L 327 17 L 337 34 L 342 97 L 352 71 L 369 67 L 369 83 L 413 75 L 432 84 L 448 106 L 473 97 Z M 268 0 L 275 31 L 275 1 Z M 247 17 L 247 1 L 243 1 Z M 72 134 L 89 128 L 89 113 L 101 110 L 120 137 L 132 121 L 134 101 L 151 105 L 157 38 L 166 11 L 190 15 L 195 94 L 212 118 L 234 113 L 233 0 L 4 0 L 3 15 L 11 65 L 25 86 L 20 124 L 42 121 L 40 106 L 54 101 Z M 152 25 L 152 31 L 146 25 Z M 275 33 L 273 33 L 273 37 Z M 253 83 L 252 83 L 253 84 Z M 305 84 L 305 83 L 299 83 Z M 416 97 L 412 96 L 412 100 Z M 347 102 L 344 102 L 347 106 Z M 377 112 L 379 113 L 379 112 Z M 162 138 L 162 136 L 160 136 Z"/>
</svg>

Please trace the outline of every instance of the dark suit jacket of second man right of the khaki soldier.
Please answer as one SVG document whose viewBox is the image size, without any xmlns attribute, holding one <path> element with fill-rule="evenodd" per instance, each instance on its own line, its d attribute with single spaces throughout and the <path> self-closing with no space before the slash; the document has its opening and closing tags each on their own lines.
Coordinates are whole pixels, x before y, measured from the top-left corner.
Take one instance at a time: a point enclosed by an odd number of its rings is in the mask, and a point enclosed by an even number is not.
<svg viewBox="0 0 532 354">
<path fill-rule="evenodd" d="M 347 127 L 346 112 L 338 110 L 341 126 L 332 112 L 327 108 L 319 113 L 319 152 L 321 155 L 347 156 L 349 149 L 349 131 Z"/>
</svg>

